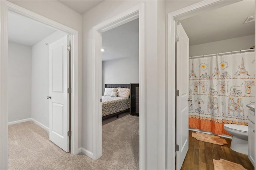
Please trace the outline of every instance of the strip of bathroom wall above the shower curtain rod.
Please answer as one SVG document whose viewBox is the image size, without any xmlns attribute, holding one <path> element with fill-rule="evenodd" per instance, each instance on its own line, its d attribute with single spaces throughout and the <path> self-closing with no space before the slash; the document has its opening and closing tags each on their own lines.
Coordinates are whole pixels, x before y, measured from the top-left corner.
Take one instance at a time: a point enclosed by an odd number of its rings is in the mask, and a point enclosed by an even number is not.
<svg viewBox="0 0 256 170">
<path fill-rule="evenodd" d="M 203 43 L 189 47 L 189 56 L 207 55 L 250 49 L 254 45 L 254 35 L 232 38 L 217 42 Z"/>
</svg>

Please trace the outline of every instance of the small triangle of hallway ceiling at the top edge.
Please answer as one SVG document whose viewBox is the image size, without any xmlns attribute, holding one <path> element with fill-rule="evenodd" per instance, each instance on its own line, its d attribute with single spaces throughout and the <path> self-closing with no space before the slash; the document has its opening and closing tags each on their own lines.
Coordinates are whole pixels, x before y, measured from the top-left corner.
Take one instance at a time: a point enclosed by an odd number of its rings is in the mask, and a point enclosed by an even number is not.
<svg viewBox="0 0 256 170">
<path fill-rule="evenodd" d="M 97 6 L 104 0 L 59 0 L 62 4 L 68 6 L 74 11 L 84 14 L 94 6 Z"/>
</svg>

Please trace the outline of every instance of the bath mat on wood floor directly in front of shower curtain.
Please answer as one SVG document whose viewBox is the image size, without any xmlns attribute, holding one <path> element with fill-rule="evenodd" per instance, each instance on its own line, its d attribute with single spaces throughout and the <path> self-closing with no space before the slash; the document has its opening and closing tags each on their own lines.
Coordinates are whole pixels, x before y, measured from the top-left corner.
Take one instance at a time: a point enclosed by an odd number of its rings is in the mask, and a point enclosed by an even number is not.
<svg viewBox="0 0 256 170">
<path fill-rule="evenodd" d="M 195 133 L 192 133 L 192 137 L 196 138 L 197 140 L 201 140 L 201 141 L 209 142 L 213 144 L 219 144 L 219 145 L 228 144 L 224 138 L 220 138 L 219 136 L 215 136 L 212 134 L 195 132 Z"/>
</svg>

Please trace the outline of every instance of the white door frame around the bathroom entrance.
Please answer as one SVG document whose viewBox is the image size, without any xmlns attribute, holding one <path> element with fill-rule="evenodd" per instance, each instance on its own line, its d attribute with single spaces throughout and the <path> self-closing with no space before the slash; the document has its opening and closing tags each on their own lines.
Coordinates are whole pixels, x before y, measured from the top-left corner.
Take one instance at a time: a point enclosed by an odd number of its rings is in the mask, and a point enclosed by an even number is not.
<svg viewBox="0 0 256 170">
<path fill-rule="evenodd" d="M 241 1 L 241 0 L 240 0 Z M 236 1 L 237 2 L 237 1 Z M 227 0 L 204 0 L 188 6 L 186 8 L 182 8 L 180 10 L 176 10 L 168 14 L 168 97 L 167 97 L 167 114 L 168 114 L 168 123 L 167 123 L 167 169 L 173 170 L 175 169 L 175 83 L 173 80 L 176 79 L 175 75 L 175 23 L 176 21 L 180 21 L 192 16 L 197 15 L 201 12 L 206 12 L 209 10 L 214 10 L 220 8 L 222 6 L 226 6 L 229 4 L 233 4 L 235 2 L 227 1 Z M 182 68 L 180 68 L 182 69 Z M 177 70 L 179 71 L 179 70 Z"/>
</svg>

